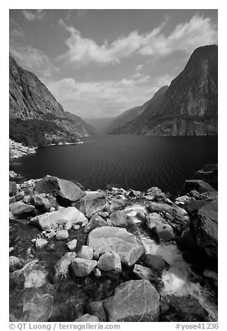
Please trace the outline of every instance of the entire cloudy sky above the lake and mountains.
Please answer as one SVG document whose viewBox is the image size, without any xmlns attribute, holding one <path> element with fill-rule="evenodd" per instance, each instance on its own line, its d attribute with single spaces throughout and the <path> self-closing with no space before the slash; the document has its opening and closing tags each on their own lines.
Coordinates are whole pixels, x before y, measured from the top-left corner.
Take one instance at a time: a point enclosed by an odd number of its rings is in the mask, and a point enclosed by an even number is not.
<svg viewBox="0 0 227 331">
<path fill-rule="evenodd" d="M 217 10 L 10 10 L 10 54 L 65 111 L 114 118 L 217 44 Z"/>
</svg>

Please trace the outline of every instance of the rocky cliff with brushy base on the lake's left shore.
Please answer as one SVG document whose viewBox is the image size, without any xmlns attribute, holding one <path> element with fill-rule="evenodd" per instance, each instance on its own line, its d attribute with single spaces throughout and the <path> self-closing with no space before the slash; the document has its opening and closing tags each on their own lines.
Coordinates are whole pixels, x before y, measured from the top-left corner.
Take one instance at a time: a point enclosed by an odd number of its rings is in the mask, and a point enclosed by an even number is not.
<svg viewBox="0 0 227 331">
<path fill-rule="evenodd" d="M 10 138 L 29 146 L 75 143 L 93 128 L 76 115 L 65 113 L 38 77 L 10 56 Z"/>
</svg>

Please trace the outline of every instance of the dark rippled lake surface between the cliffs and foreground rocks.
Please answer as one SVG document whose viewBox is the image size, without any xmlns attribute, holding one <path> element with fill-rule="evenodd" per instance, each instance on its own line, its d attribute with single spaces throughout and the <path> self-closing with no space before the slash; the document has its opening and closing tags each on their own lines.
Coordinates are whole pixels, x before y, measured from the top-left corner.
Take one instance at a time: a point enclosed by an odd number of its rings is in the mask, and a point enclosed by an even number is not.
<svg viewBox="0 0 227 331">
<path fill-rule="evenodd" d="M 84 188 L 107 184 L 146 191 L 158 186 L 178 195 L 185 179 L 217 163 L 217 136 L 93 136 L 83 144 L 47 146 L 15 160 L 10 169 L 25 179 L 54 175 Z"/>
</svg>

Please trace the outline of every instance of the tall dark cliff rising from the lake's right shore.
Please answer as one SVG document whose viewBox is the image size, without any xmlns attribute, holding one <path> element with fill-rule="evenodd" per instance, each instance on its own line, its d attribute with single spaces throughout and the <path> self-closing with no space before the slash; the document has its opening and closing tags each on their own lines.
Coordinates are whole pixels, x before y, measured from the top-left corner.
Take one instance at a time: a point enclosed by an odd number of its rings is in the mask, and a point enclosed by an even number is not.
<svg viewBox="0 0 227 331">
<path fill-rule="evenodd" d="M 185 69 L 161 88 L 143 113 L 112 134 L 203 136 L 217 134 L 217 45 L 199 47 Z"/>
</svg>

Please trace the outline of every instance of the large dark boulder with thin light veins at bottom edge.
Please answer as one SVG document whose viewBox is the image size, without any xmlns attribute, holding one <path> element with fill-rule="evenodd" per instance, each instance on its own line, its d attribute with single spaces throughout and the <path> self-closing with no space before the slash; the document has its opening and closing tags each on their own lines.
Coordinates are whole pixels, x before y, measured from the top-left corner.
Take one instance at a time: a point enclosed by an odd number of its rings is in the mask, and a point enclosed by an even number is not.
<svg viewBox="0 0 227 331">
<path fill-rule="evenodd" d="M 159 319 L 159 293 L 148 280 L 130 280 L 104 300 L 109 322 L 154 322 Z"/>
</svg>

